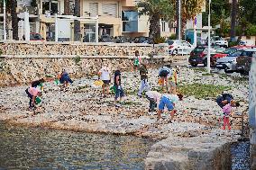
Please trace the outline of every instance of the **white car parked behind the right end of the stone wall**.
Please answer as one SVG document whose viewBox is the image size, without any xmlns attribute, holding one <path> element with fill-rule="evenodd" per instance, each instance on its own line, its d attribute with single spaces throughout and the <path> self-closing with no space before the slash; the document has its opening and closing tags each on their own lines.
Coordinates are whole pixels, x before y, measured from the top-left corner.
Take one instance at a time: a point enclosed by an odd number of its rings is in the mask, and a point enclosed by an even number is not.
<svg viewBox="0 0 256 170">
<path fill-rule="evenodd" d="M 170 55 L 187 55 L 195 49 L 186 40 L 166 40 L 165 43 L 169 44 Z"/>
</svg>

